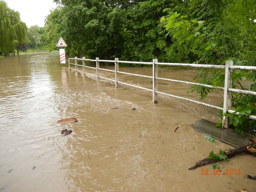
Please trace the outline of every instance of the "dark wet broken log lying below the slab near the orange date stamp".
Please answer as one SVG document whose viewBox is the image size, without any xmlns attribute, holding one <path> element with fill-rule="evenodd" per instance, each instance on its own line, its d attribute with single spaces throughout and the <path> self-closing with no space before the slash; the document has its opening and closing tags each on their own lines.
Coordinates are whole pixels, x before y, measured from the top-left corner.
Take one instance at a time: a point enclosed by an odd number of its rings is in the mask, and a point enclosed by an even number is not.
<svg viewBox="0 0 256 192">
<path fill-rule="evenodd" d="M 227 151 L 225 153 L 225 155 L 227 158 L 231 158 L 231 157 L 235 156 L 236 154 L 240 154 L 240 153 L 244 153 L 244 152 L 250 153 L 249 150 L 247 150 L 247 147 L 249 149 L 251 149 L 253 147 L 252 145 L 254 143 L 255 143 L 255 141 L 251 142 L 249 145 L 245 145 L 245 146 L 239 147 L 237 149 L 232 149 L 230 151 Z M 218 161 L 220 161 L 220 160 L 218 160 Z M 214 161 L 213 159 L 210 159 L 210 158 L 204 158 L 203 160 L 196 162 L 196 165 L 194 165 L 193 167 L 190 167 L 188 170 L 196 169 L 197 167 L 209 165 L 209 164 L 212 164 L 212 163 L 215 163 L 218 161 Z"/>
</svg>

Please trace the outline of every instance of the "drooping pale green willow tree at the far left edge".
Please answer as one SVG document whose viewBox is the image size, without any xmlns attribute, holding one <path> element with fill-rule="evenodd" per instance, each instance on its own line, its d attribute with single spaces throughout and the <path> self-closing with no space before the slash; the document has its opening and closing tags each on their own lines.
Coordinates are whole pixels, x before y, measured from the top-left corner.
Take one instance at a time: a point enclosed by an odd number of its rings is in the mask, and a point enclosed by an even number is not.
<svg viewBox="0 0 256 192">
<path fill-rule="evenodd" d="M 14 53 L 18 43 L 26 37 L 27 26 L 20 20 L 20 13 L 0 1 L 0 54 Z"/>
</svg>

